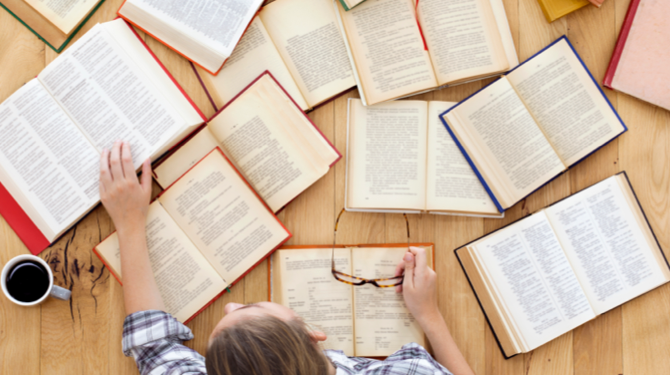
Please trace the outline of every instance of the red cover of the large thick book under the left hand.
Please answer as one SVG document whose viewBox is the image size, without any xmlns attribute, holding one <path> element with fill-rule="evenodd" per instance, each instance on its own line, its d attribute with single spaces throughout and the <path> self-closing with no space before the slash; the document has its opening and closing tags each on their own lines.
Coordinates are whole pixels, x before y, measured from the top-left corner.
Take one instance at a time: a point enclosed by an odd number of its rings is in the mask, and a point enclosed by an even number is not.
<svg viewBox="0 0 670 375">
<path fill-rule="evenodd" d="M 147 49 L 151 56 L 156 60 L 158 65 L 163 69 L 165 74 L 170 78 L 170 80 L 177 86 L 179 91 L 184 95 L 186 100 L 193 106 L 195 111 L 200 115 L 203 121 L 206 121 L 207 118 L 200 111 L 198 106 L 195 105 L 193 100 L 186 94 L 186 91 L 181 87 L 179 82 L 170 74 L 170 72 L 165 68 L 163 63 L 156 57 L 156 55 L 151 51 L 147 44 L 140 38 L 137 32 L 126 22 L 126 25 L 133 31 L 137 39 L 142 43 L 142 45 Z M 7 221 L 7 224 L 14 230 L 14 232 L 19 236 L 21 241 L 26 245 L 28 250 L 34 255 L 37 255 L 44 251 L 47 247 L 51 246 L 52 243 L 49 243 L 49 240 L 46 236 L 39 230 L 37 225 L 33 223 L 28 214 L 21 208 L 18 202 L 12 197 L 12 195 L 7 191 L 7 189 L 0 183 L 0 215 Z M 85 216 L 84 216 L 85 217 Z M 71 225 L 75 226 L 77 223 Z M 54 242 L 57 241 L 54 240 Z"/>
</svg>

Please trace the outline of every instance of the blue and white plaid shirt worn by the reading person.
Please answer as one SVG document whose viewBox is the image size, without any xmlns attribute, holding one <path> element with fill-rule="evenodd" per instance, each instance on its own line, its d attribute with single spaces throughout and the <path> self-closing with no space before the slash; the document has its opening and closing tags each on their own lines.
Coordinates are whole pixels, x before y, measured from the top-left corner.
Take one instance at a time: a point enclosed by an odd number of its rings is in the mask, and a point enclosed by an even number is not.
<svg viewBox="0 0 670 375">
<path fill-rule="evenodd" d="M 193 333 L 172 315 L 158 310 L 139 311 L 123 323 L 123 353 L 133 356 L 142 375 L 205 375 L 205 358 L 182 345 Z M 347 357 L 339 350 L 324 353 L 337 375 L 451 375 L 421 345 L 411 343 L 384 361 Z"/>
</svg>

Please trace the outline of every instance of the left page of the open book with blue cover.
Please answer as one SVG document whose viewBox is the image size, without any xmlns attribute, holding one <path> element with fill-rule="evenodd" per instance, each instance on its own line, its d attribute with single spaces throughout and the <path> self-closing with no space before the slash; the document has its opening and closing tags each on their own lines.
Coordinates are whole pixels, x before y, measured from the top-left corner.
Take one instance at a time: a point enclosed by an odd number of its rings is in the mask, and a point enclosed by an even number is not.
<svg viewBox="0 0 670 375">
<path fill-rule="evenodd" d="M 461 102 L 446 120 L 503 208 L 565 169 L 505 77 Z"/>
</svg>

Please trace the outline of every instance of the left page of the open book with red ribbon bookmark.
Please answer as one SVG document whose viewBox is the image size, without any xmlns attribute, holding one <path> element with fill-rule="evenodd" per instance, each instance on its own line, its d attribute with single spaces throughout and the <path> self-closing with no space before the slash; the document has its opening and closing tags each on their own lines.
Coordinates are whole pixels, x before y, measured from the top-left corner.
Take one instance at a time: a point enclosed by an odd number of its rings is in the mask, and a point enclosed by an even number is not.
<svg viewBox="0 0 670 375">
<path fill-rule="evenodd" d="M 367 0 L 348 12 L 338 9 L 367 104 L 438 86 L 412 0 Z"/>
</svg>

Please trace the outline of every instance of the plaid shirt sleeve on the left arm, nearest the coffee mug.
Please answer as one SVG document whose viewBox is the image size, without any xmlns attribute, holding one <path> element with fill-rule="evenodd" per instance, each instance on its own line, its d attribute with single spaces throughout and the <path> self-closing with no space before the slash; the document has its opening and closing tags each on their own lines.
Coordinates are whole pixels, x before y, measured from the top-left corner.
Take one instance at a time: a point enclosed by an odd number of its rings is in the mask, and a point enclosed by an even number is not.
<svg viewBox="0 0 670 375">
<path fill-rule="evenodd" d="M 142 375 L 205 375 L 205 358 L 182 344 L 191 339 L 191 330 L 163 311 L 139 311 L 123 322 L 123 354 Z"/>
</svg>

